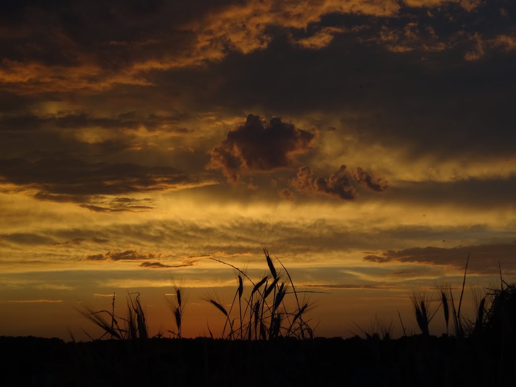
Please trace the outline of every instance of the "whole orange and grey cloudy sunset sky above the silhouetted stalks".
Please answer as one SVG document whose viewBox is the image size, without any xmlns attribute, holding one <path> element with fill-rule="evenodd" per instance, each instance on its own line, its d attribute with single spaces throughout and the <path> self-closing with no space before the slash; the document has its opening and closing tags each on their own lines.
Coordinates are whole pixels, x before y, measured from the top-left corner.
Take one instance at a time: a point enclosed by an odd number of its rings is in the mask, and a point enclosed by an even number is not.
<svg viewBox="0 0 516 387">
<path fill-rule="evenodd" d="M 172 329 L 174 281 L 216 331 L 263 247 L 318 335 L 514 281 L 515 66 L 511 0 L 3 4 L 0 335 Z"/>
</svg>

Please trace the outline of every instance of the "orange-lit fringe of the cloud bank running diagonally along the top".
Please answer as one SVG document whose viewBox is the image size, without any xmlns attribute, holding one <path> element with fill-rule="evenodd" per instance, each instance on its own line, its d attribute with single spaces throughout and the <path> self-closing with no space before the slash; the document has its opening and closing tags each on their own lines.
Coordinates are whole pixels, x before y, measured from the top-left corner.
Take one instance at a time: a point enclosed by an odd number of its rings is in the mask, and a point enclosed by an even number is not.
<svg viewBox="0 0 516 387">
<path fill-rule="evenodd" d="M 445 2 L 406 0 L 405 3 L 411 7 L 435 7 Z M 447 0 L 446 3 L 458 3 L 466 10 L 473 10 L 480 4 L 479 0 Z M 32 48 L 26 48 L 29 50 L 28 56 L 26 53 L 18 58 L 13 56 L 8 59 L 6 56 L 0 64 L 0 83 L 18 94 L 91 92 L 111 89 L 116 85 L 151 86 L 153 83 L 147 74 L 154 70 L 202 66 L 206 62 L 222 60 L 230 50 L 249 54 L 265 49 L 272 41 L 269 32 L 271 26 L 306 29 L 320 22 L 321 17 L 327 14 L 396 17 L 399 10 L 400 2 L 397 0 L 251 0 L 245 4 L 215 7 L 205 14 L 196 14 L 190 20 L 176 20 L 174 34 L 165 33 L 156 26 L 155 34 L 151 36 L 141 34 L 132 40 L 123 40 L 109 29 L 102 39 L 90 31 L 93 40 L 99 39 L 92 43 L 93 47 L 72 34 L 67 35 L 65 26 L 45 31 L 45 38 L 40 40 L 45 27 L 27 16 L 23 22 L 31 27 L 0 30 L 4 39 L 14 36 L 36 40 Z M 49 10 L 39 11 L 40 18 L 51 16 L 46 13 L 51 13 Z M 173 7 L 165 11 L 178 13 Z M 89 15 L 89 18 L 94 17 L 94 14 Z M 324 26 L 310 37 L 293 41 L 305 49 L 318 50 L 330 44 L 333 36 L 342 31 L 342 28 Z M 56 65 L 48 59 L 38 60 L 36 58 L 40 55 L 36 51 L 31 58 L 30 50 L 37 46 L 48 46 L 49 51 L 68 53 L 68 56 L 63 56 L 63 61 L 67 59 L 69 63 L 65 66 Z M 392 45 L 392 50 L 403 52 L 408 49 L 398 44 Z"/>
</svg>

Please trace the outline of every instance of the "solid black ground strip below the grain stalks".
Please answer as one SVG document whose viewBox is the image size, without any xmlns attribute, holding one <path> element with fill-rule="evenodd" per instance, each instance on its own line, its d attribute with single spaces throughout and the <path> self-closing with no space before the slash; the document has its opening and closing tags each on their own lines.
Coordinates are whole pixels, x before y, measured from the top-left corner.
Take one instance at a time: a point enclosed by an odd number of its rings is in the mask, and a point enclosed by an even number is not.
<svg viewBox="0 0 516 387">
<path fill-rule="evenodd" d="M 501 344 L 501 343 L 498 343 Z M 65 343 L 0 337 L 2 386 L 511 386 L 513 349 L 472 338 L 210 338 Z M 502 350 L 501 350 L 502 349 Z"/>
</svg>

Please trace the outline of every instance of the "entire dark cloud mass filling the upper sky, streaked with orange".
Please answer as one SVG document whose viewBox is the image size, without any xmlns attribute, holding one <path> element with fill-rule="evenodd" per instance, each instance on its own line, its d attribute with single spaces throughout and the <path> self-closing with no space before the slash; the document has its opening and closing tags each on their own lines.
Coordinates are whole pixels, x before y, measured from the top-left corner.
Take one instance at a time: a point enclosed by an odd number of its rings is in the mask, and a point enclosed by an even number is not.
<svg viewBox="0 0 516 387">
<path fill-rule="evenodd" d="M 166 96 L 204 111 L 352 111 L 343 126 L 414 157 L 511 152 L 513 2 L 334 3 L 24 3 L 4 15 L 6 85 L 114 88 L 111 102 L 120 93 Z M 256 14 L 260 27 L 249 23 Z M 196 52 L 201 43 L 208 48 Z M 71 85 L 60 84 L 63 67 L 79 74 Z M 9 81 L 14 70 L 19 79 Z M 124 82 L 136 86 L 118 88 Z"/>
</svg>

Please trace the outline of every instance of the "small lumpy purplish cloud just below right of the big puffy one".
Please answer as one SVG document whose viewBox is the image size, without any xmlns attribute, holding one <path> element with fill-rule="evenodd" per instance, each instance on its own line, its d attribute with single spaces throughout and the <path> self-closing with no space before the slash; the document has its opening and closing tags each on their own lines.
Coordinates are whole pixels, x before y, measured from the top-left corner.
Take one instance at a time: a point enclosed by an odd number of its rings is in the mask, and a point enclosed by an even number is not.
<svg viewBox="0 0 516 387">
<path fill-rule="evenodd" d="M 301 167 L 297 176 L 289 182 L 293 188 L 305 195 L 327 196 L 330 198 L 353 200 L 357 198 L 357 190 L 351 185 L 352 176 L 342 165 L 328 179 L 314 177 L 309 167 Z"/>
</svg>

